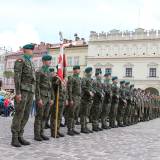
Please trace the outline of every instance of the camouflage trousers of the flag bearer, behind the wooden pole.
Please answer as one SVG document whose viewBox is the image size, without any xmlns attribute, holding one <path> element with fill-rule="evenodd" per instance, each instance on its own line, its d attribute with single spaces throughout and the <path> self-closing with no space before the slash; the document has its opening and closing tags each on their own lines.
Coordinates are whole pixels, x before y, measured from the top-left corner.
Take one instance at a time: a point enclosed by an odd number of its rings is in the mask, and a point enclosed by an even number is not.
<svg viewBox="0 0 160 160">
<path fill-rule="evenodd" d="M 60 130 L 60 124 L 63 117 L 63 111 L 64 111 L 64 103 L 65 101 L 62 99 L 59 99 L 59 106 L 58 106 L 58 118 L 57 118 L 57 132 Z M 51 126 L 51 136 L 54 136 L 55 134 L 55 126 L 56 126 L 56 102 L 51 107 L 51 117 L 50 117 L 50 126 Z"/>
</svg>

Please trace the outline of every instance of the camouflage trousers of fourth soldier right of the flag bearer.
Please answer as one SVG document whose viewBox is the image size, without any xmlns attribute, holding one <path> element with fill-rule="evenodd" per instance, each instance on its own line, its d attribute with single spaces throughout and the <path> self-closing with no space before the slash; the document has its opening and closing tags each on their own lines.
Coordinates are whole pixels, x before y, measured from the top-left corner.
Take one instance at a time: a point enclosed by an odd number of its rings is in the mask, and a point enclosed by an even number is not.
<svg viewBox="0 0 160 160">
<path fill-rule="evenodd" d="M 111 110 L 111 103 L 106 103 L 104 101 L 102 105 L 102 112 L 101 112 L 102 127 L 107 126 L 107 120 L 109 120 L 110 110 Z"/>
</svg>

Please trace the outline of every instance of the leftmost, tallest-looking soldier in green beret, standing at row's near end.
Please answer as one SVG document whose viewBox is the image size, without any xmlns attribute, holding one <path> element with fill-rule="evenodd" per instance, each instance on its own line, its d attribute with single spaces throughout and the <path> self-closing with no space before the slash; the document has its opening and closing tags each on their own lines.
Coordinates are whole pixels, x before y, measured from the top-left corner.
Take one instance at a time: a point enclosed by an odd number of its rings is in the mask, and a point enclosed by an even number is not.
<svg viewBox="0 0 160 160">
<path fill-rule="evenodd" d="M 28 44 L 23 47 L 24 54 L 17 59 L 14 65 L 15 81 L 15 114 L 12 120 L 12 142 L 15 147 L 29 145 L 23 138 L 24 127 L 28 121 L 33 96 L 35 93 L 35 69 L 31 61 L 34 45 Z"/>
</svg>

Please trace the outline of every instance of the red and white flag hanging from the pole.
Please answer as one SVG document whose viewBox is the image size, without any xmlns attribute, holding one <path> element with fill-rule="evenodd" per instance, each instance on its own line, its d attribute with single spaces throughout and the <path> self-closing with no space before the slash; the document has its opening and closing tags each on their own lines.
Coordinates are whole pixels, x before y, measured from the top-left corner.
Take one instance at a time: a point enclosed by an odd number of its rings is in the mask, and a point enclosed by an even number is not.
<svg viewBox="0 0 160 160">
<path fill-rule="evenodd" d="M 66 56 L 64 54 L 64 45 L 60 44 L 57 74 L 61 78 L 61 80 L 63 80 L 66 76 L 66 67 L 67 67 L 67 63 L 66 63 Z"/>
</svg>

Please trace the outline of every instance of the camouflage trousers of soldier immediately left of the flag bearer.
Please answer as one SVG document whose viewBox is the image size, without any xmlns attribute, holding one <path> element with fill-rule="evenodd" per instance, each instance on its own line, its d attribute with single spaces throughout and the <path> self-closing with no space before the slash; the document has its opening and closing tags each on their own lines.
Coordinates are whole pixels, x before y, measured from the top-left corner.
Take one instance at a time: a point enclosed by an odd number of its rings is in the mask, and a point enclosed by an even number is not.
<svg viewBox="0 0 160 160">
<path fill-rule="evenodd" d="M 50 110 L 50 98 L 42 97 L 43 106 L 38 106 L 36 104 L 36 116 L 34 122 L 34 135 L 40 136 L 44 134 L 45 124 L 49 115 Z"/>
</svg>

